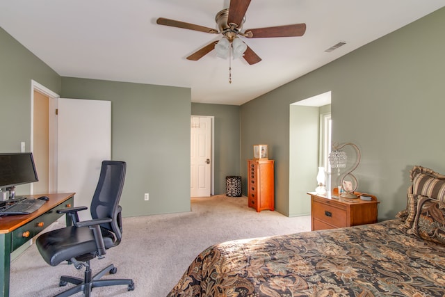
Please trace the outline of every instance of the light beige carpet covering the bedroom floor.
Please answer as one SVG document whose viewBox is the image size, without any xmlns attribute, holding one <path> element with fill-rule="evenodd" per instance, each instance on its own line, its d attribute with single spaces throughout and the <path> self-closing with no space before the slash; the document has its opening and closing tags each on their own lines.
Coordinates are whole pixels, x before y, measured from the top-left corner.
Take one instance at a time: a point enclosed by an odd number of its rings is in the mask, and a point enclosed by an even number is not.
<svg viewBox="0 0 445 297">
<path fill-rule="evenodd" d="M 108 250 L 104 259 L 93 259 L 91 266 L 94 274 L 115 264 L 118 273 L 104 278 L 132 278 L 136 289 L 95 288 L 92 296 L 166 296 L 195 256 L 215 243 L 310 230 L 309 216 L 257 213 L 247 204 L 245 197 L 216 195 L 192 198 L 188 213 L 124 218 L 120 245 Z M 63 274 L 83 278 L 83 270 L 72 265 L 49 266 L 33 245 L 11 264 L 10 296 L 53 296 L 71 286 L 58 287 L 58 277 Z"/>
</svg>

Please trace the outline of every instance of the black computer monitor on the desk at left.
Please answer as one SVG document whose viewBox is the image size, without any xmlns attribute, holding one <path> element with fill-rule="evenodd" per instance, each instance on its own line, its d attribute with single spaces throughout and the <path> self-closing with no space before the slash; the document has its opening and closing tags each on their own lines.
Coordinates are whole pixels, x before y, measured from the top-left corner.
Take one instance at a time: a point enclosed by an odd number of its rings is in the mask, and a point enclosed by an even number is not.
<svg viewBox="0 0 445 297">
<path fill-rule="evenodd" d="M 38 182 L 33 153 L 0 153 L 0 188 Z"/>
</svg>

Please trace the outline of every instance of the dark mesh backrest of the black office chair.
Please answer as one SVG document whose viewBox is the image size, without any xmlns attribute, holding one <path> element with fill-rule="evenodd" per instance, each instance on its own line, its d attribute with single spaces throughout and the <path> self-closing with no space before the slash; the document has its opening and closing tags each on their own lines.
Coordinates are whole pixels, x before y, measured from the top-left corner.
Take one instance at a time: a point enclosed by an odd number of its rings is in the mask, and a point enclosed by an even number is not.
<svg viewBox="0 0 445 297">
<path fill-rule="evenodd" d="M 116 245 L 122 239 L 122 208 L 119 200 L 124 187 L 126 168 L 127 163 L 124 161 L 102 161 L 99 182 L 90 207 L 92 218 L 113 219 L 111 223 L 101 224 L 101 227 L 115 234 Z"/>
</svg>

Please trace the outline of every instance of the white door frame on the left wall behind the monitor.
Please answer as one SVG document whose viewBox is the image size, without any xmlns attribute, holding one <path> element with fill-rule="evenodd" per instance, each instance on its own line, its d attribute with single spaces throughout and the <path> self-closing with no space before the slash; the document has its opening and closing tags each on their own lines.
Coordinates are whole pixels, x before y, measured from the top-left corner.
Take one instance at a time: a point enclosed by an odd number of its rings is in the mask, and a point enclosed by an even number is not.
<svg viewBox="0 0 445 297">
<path fill-rule="evenodd" d="M 31 144 L 30 152 L 34 150 L 34 91 L 42 93 L 49 98 L 49 193 L 55 193 L 57 191 L 57 99 L 60 97 L 57 93 L 54 93 L 49 88 L 43 86 L 31 79 Z M 33 194 L 33 184 L 30 186 L 30 193 Z"/>
</svg>

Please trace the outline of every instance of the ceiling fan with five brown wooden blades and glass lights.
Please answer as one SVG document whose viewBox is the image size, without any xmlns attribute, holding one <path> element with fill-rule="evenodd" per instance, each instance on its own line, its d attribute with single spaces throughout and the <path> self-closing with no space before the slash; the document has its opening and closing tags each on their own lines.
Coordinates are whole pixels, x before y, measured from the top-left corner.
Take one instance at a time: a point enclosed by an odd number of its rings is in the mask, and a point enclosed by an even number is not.
<svg viewBox="0 0 445 297">
<path fill-rule="evenodd" d="M 218 30 L 196 24 L 180 22 L 175 19 L 165 19 L 164 17 L 159 17 L 159 19 L 156 20 L 156 23 L 164 26 L 173 26 L 212 34 L 223 34 L 223 38 L 221 38 L 219 42 L 213 41 L 209 43 L 209 45 L 198 49 L 195 53 L 187 57 L 188 60 L 192 61 L 199 60 L 203 56 L 209 54 L 213 49 L 216 49 L 218 56 L 221 56 L 221 49 L 229 49 L 229 47 L 232 47 L 234 56 L 243 56 L 245 61 L 250 65 L 253 65 L 261 61 L 261 58 L 255 54 L 248 45 L 245 45 L 245 43 L 238 38 L 239 36 L 245 38 L 273 38 L 302 36 L 305 34 L 306 24 L 273 26 L 248 29 L 244 32 L 241 31 L 245 22 L 245 12 L 248 10 L 250 1 L 251 0 L 231 0 L 229 8 L 223 9 L 216 14 L 215 21 Z"/>
</svg>

